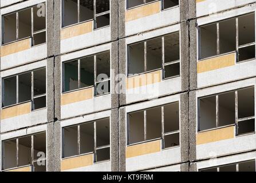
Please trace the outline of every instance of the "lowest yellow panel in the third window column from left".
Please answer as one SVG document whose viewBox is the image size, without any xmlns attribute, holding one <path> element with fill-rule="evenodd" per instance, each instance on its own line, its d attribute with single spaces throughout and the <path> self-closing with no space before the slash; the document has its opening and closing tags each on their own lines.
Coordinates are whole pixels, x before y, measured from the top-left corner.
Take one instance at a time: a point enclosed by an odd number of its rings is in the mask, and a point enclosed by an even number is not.
<svg viewBox="0 0 256 183">
<path fill-rule="evenodd" d="M 128 146 L 126 148 L 126 158 L 141 156 L 144 154 L 157 153 L 160 151 L 161 151 L 161 140 L 145 142 L 144 144 Z"/>
</svg>

